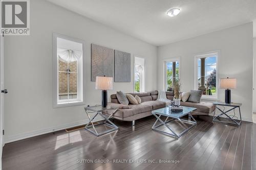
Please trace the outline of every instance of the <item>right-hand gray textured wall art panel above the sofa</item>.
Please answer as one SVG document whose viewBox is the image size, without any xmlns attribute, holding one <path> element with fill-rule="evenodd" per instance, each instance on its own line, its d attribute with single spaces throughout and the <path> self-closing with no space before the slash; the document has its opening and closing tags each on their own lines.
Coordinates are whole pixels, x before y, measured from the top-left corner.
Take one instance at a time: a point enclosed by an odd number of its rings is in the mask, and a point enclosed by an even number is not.
<svg viewBox="0 0 256 170">
<path fill-rule="evenodd" d="M 131 82 L 131 54 L 115 50 L 115 82 Z"/>
</svg>

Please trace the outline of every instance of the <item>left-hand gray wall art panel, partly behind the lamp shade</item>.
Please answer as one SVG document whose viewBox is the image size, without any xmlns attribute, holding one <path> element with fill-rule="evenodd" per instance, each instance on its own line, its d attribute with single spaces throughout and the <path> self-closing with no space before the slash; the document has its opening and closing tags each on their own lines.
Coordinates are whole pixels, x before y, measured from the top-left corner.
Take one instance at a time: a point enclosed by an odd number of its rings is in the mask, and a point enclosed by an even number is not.
<svg viewBox="0 0 256 170">
<path fill-rule="evenodd" d="M 96 76 L 113 77 L 114 50 L 100 45 L 91 46 L 91 81 L 96 81 Z"/>
</svg>

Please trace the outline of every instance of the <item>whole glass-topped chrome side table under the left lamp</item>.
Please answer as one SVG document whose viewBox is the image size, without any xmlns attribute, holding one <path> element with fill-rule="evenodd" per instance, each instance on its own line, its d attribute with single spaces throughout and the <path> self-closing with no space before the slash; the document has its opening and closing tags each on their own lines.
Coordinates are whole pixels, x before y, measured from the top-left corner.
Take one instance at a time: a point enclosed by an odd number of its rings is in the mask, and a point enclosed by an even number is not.
<svg viewBox="0 0 256 170">
<path fill-rule="evenodd" d="M 100 135 L 118 130 L 118 127 L 110 121 L 110 118 L 116 113 L 116 111 L 118 110 L 118 107 L 107 106 L 106 108 L 102 108 L 101 105 L 96 105 L 96 106 L 84 107 L 84 110 L 86 111 L 86 114 L 90 120 L 90 122 L 84 127 L 84 129 L 87 130 L 88 132 L 96 136 L 100 136 Z M 106 116 L 102 114 L 103 111 L 109 111 L 109 110 L 113 110 L 111 115 Z M 96 113 L 96 114 L 91 118 L 90 113 Z M 104 122 L 95 124 L 93 120 L 97 115 L 100 115 L 102 118 L 104 118 Z M 95 127 L 100 125 L 106 125 L 111 129 L 98 133 Z M 89 128 L 93 128 L 94 131 Z"/>
</svg>

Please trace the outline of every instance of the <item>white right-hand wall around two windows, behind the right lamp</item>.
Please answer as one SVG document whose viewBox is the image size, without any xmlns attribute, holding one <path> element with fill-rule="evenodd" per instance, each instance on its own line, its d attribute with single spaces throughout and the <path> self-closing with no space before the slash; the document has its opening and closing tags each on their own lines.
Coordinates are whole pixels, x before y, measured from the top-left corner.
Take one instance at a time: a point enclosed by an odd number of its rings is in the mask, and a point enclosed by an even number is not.
<svg viewBox="0 0 256 170">
<path fill-rule="evenodd" d="M 182 90 L 189 91 L 194 89 L 195 55 L 216 50 L 221 51 L 219 78 L 238 79 L 231 100 L 242 103 L 242 118 L 252 121 L 252 22 L 158 47 L 158 89 L 163 88 L 164 58 L 181 57 Z M 218 89 L 219 100 L 224 101 L 224 95 L 224 89 Z"/>
</svg>

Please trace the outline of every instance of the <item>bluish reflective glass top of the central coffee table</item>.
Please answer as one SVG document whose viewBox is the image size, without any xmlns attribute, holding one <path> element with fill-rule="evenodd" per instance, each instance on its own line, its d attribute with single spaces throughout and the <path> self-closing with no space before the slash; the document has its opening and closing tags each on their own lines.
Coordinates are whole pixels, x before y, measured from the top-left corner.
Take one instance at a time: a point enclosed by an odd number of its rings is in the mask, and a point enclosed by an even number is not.
<svg viewBox="0 0 256 170">
<path fill-rule="evenodd" d="M 154 110 L 153 112 L 155 114 L 160 114 L 163 116 L 168 116 L 168 117 L 173 117 L 173 118 L 180 118 L 188 113 L 190 113 L 191 111 L 196 110 L 197 108 L 195 107 L 186 107 L 186 106 L 182 106 L 183 107 L 183 111 L 182 112 L 171 112 L 169 111 L 169 107 L 165 107 L 162 109 L 157 109 Z"/>
</svg>

